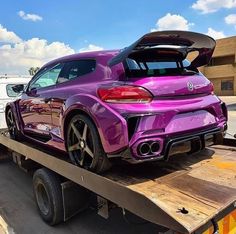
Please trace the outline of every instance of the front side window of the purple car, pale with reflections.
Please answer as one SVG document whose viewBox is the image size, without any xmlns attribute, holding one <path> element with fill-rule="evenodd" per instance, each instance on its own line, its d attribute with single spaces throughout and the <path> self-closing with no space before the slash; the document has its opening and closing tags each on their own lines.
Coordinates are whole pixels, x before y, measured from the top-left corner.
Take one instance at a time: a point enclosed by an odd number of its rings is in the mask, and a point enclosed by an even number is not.
<svg viewBox="0 0 236 234">
<path fill-rule="evenodd" d="M 55 85 L 58 79 L 58 76 L 62 70 L 63 65 L 57 64 L 53 68 L 46 70 L 42 74 L 40 74 L 35 80 L 30 84 L 30 89 L 36 88 L 45 88 L 52 85 Z"/>
</svg>

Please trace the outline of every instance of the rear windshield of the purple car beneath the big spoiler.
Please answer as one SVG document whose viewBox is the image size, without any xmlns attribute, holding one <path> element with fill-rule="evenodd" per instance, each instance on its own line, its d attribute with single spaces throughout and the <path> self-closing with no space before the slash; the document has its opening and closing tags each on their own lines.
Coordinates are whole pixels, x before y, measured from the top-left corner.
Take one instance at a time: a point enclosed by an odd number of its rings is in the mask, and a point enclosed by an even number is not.
<svg viewBox="0 0 236 234">
<path fill-rule="evenodd" d="M 154 56 L 153 53 L 136 54 L 125 62 L 128 77 L 171 76 L 196 74 L 196 68 L 189 68 L 190 62 L 181 56 Z"/>
</svg>

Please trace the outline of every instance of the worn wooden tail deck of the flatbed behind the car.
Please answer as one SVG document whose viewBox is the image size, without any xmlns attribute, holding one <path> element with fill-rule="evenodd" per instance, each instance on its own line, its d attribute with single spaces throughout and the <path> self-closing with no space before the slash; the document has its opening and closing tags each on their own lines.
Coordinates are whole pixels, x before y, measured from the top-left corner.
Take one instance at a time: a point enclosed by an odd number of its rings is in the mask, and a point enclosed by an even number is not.
<svg viewBox="0 0 236 234">
<path fill-rule="evenodd" d="M 142 167 L 137 174 L 137 168 L 133 172 L 122 168 L 110 178 L 148 197 L 189 232 L 236 201 L 235 148 L 220 146 L 179 155 L 168 163 Z M 180 212 L 183 208 L 188 214 Z"/>
</svg>

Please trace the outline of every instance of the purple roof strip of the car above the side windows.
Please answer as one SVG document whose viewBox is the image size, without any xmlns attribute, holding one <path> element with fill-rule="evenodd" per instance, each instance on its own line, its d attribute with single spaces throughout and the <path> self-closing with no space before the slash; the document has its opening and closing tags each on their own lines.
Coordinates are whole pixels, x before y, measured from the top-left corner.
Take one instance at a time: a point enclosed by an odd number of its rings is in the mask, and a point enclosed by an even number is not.
<svg viewBox="0 0 236 234">
<path fill-rule="evenodd" d="M 57 59 L 54 59 L 47 64 L 45 64 L 43 67 L 46 67 L 50 64 L 55 64 L 57 62 L 67 61 L 67 60 L 76 60 L 76 59 L 86 59 L 86 58 L 97 58 L 101 56 L 108 56 L 113 57 L 117 55 L 120 52 L 120 50 L 100 50 L 100 51 L 89 51 L 89 52 L 81 52 L 76 54 L 67 55 L 64 57 L 60 57 Z"/>
</svg>

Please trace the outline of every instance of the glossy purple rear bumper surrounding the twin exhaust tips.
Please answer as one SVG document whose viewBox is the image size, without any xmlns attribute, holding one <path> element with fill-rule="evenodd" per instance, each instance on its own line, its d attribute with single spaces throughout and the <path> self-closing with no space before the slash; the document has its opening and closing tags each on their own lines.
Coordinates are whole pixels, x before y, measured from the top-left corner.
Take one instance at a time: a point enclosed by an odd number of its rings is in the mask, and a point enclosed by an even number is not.
<svg viewBox="0 0 236 234">
<path fill-rule="evenodd" d="M 137 146 L 143 141 L 160 141 L 160 151 L 166 138 L 221 127 L 227 121 L 227 110 L 215 95 L 176 100 L 154 100 L 149 104 L 101 103 L 102 121 L 98 130 L 108 156 L 118 157 L 130 148 L 138 157 Z M 106 113 L 104 110 L 107 110 Z M 225 111 L 224 111 L 225 110 Z M 156 156 L 160 152 L 156 152 Z M 148 155 L 149 158 L 152 155 Z M 147 157 L 148 158 L 148 157 Z M 144 159 L 144 158 L 143 158 Z"/>
</svg>

